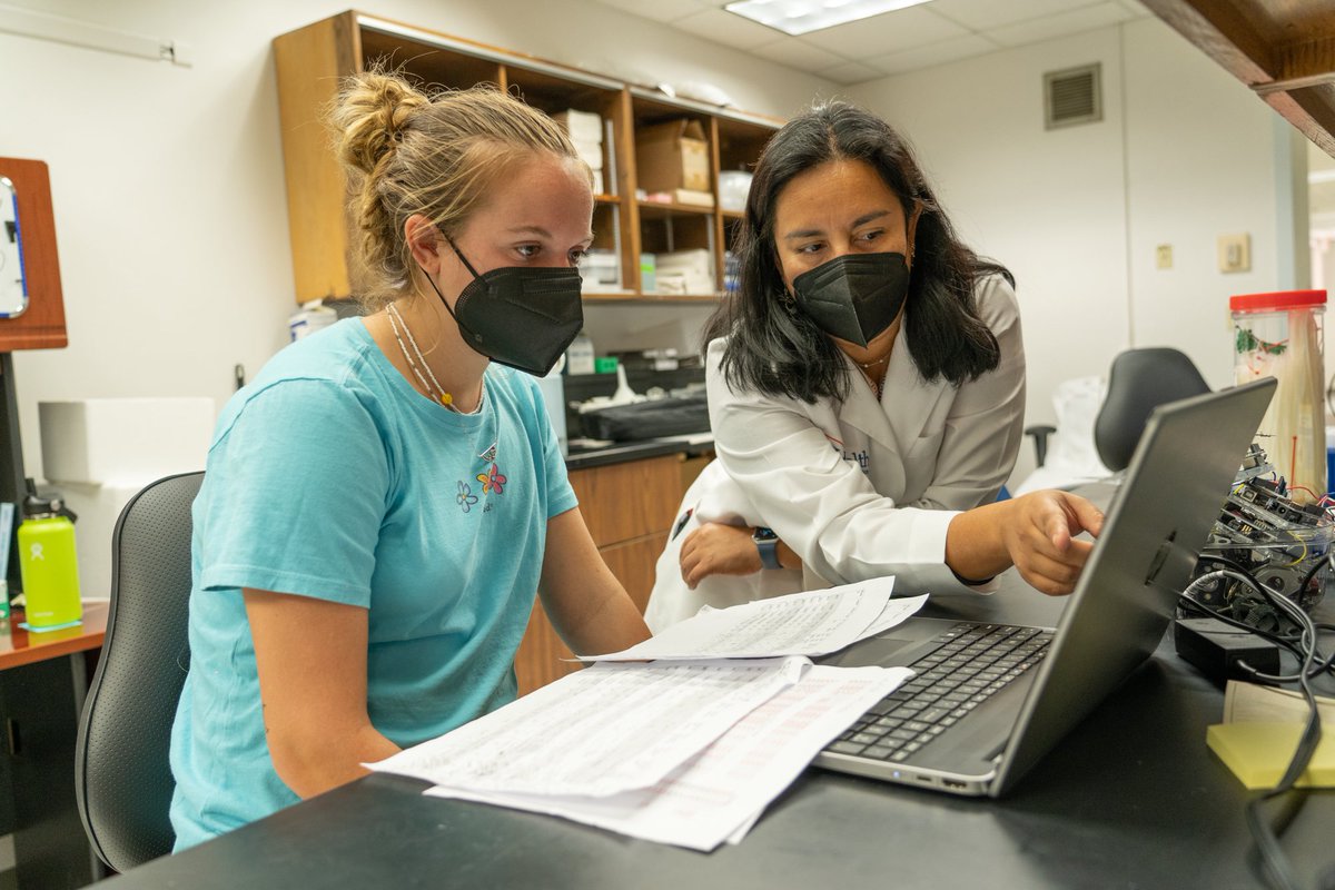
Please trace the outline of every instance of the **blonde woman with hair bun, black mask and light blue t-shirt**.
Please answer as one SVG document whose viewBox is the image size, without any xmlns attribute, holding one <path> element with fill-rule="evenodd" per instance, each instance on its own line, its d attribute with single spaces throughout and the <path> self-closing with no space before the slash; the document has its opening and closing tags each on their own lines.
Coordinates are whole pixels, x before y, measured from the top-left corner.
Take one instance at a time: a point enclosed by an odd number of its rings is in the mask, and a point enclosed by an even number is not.
<svg viewBox="0 0 1335 890">
<path fill-rule="evenodd" d="M 581 327 L 589 169 L 494 89 L 352 79 L 368 315 L 283 350 L 223 411 L 195 503 L 183 849 L 511 701 L 534 591 L 577 652 L 649 635 L 543 414 Z"/>
</svg>

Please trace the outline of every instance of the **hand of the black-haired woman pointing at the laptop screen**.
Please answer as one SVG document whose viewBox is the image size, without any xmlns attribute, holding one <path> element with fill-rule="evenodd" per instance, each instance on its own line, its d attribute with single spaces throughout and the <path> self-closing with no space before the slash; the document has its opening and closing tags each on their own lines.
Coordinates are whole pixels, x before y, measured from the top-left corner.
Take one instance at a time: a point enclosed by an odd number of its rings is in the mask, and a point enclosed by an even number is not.
<svg viewBox="0 0 1335 890">
<path fill-rule="evenodd" d="M 1103 530 L 1103 511 L 1069 491 L 1035 491 L 1012 502 L 1001 528 L 1011 562 L 1029 586 L 1052 596 L 1076 587 L 1093 542 L 1076 540 Z"/>
</svg>

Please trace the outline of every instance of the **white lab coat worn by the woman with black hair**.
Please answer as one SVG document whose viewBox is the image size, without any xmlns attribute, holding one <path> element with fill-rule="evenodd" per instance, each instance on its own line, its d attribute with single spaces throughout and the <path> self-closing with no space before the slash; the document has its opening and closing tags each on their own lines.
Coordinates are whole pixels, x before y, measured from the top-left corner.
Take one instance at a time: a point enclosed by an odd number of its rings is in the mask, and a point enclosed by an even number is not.
<svg viewBox="0 0 1335 890">
<path fill-rule="evenodd" d="M 717 459 L 686 491 L 658 559 L 645 619 L 655 632 L 701 606 L 896 575 L 906 592 L 983 591 L 945 566 L 945 531 L 957 512 L 996 499 L 1024 438 L 1024 344 L 1015 291 L 980 282 L 979 311 L 1001 360 L 977 380 L 926 383 L 901 339 L 884 396 L 849 362 L 842 404 L 734 392 L 718 370 L 724 340 L 709 344 L 706 380 Z M 682 519 L 686 511 L 690 516 Z M 713 575 L 696 590 L 681 578 L 681 544 L 704 522 L 768 526 L 804 568 Z"/>
</svg>

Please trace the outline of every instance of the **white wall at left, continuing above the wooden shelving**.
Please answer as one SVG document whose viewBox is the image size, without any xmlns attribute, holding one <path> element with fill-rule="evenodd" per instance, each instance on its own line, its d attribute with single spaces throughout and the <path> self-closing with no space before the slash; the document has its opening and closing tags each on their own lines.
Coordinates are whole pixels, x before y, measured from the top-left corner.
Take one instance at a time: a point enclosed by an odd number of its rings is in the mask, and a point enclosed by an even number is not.
<svg viewBox="0 0 1335 890">
<path fill-rule="evenodd" d="M 40 478 L 39 400 L 220 406 L 235 364 L 254 375 L 282 347 L 295 306 L 270 41 L 348 4 L 7 1 L 183 40 L 195 56 L 182 68 L 0 33 L 0 155 L 51 167 L 69 330 L 68 348 L 15 358 L 24 456 Z M 776 116 L 832 87 L 579 0 L 378 0 L 367 12 L 619 76 L 710 81 Z"/>
</svg>

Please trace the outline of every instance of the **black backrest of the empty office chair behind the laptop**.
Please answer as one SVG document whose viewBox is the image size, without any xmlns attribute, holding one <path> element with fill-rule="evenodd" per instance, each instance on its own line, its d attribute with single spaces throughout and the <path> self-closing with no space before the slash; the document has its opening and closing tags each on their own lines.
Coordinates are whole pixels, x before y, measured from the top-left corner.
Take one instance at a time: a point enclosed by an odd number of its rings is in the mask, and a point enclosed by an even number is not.
<svg viewBox="0 0 1335 890">
<path fill-rule="evenodd" d="M 1149 412 L 1203 392 L 1210 392 L 1210 386 L 1177 350 L 1155 347 L 1117 354 L 1108 372 L 1108 395 L 1093 423 L 1099 459 L 1109 470 L 1125 470 Z"/>
</svg>

